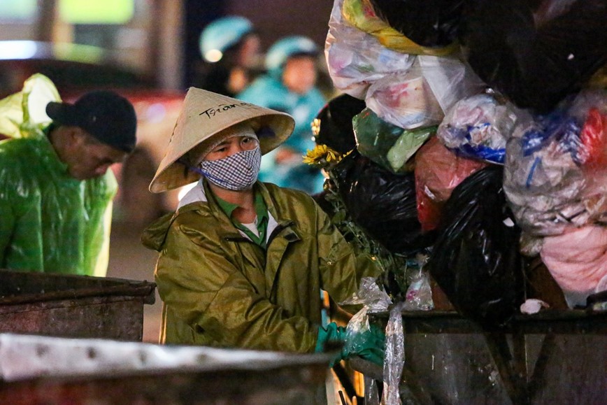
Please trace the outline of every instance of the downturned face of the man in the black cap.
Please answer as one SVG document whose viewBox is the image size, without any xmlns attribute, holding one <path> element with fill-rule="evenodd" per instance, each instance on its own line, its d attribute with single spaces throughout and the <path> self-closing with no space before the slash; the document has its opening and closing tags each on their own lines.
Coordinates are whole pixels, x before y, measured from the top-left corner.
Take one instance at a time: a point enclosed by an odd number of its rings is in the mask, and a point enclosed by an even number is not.
<svg viewBox="0 0 607 405">
<path fill-rule="evenodd" d="M 103 176 L 111 165 L 122 162 L 127 155 L 82 131 L 82 136 L 73 139 L 65 163 L 73 178 L 87 180 Z"/>
</svg>

